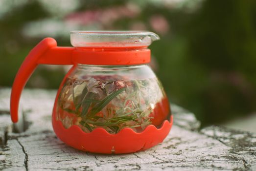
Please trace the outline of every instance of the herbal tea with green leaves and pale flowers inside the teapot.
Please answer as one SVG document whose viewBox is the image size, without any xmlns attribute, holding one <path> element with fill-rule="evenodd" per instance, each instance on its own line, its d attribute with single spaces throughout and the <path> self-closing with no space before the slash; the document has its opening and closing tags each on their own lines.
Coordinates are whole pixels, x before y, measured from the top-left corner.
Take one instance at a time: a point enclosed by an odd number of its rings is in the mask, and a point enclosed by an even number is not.
<svg viewBox="0 0 256 171">
<path fill-rule="evenodd" d="M 65 128 L 79 126 L 85 132 L 122 128 L 141 132 L 148 125 L 161 127 L 170 119 L 168 99 L 157 78 L 124 81 L 117 76 L 67 78 L 58 97 L 57 120 Z"/>
</svg>

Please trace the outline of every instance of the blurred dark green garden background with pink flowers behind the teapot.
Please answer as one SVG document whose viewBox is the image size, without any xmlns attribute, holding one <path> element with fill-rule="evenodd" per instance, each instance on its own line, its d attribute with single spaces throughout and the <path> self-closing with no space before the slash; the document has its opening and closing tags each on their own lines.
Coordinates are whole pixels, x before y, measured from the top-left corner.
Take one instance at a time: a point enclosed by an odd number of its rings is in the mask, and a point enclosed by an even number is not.
<svg viewBox="0 0 256 171">
<path fill-rule="evenodd" d="M 202 126 L 256 111 L 256 0 L 0 0 L 0 87 L 43 38 L 95 29 L 159 34 L 156 73 Z M 58 88 L 67 70 L 41 65 L 26 87 Z"/>
</svg>

